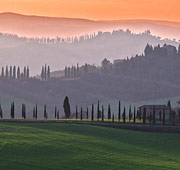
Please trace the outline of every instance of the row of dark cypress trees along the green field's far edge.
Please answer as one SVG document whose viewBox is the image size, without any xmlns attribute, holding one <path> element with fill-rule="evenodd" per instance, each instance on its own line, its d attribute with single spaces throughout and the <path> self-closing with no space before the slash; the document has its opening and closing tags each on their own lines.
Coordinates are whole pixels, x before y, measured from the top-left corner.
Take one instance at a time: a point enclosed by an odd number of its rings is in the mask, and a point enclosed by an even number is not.
<svg viewBox="0 0 180 170">
<path fill-rule="evenodd" d="M 147 115 L 147 110 L 146 108 L 143 109 L 143 111 L 140 111 L 136 107 L 131 107 L 129 106 L 129 110 L 126 109 L 126 107 L 122 107 L 121 101 L 119 101 L 118 104 L 118 112 L 115 114 L 111 110 L 111 105 L 108 105 L 107 109 L 107 116 L 105 114 L 105 109 L 104 106 L 100 106 L 100 102 L 98 101 L 97 104 L 97 110 L 95 110 L 94 104 L 92 104 L 91 109 L 87 107 L 86 109 L 83 110 L 82 107 L 78 110 L 78 106 L 75 108 L 75 114 L 73 117 L 77 121 L 98 121 L 98 122 L 121 122 L 121 123 L 138 123 L 138 124 L 161 124 L 161 125 L 175 125 L 175 117 L 176 117 L 176 112 L 171 108 L 170 101 L 168 102 L 168 106 L 170 107 L 170 112 L 169 112 L 169 119 L 166 119 L 166 113 L 165 109 L 162 109 L 159 114 L 159 118 L 156 118 L 156 107 L 155 105 L 153 106 L 153 111 L 150 113 L 150 115 Z M 71 115 L 71 107 L 69 103 L 69 98 L 65 97 L 64 102 L 63 102 L 63 108 L 64 108 L 64 114 L 66 119 L 71 119 L 73 118 Z M 42 115 L 42 114 L 41 114 Z M 40 115 L 39 115 L 40 117 Z M 43 117 L 45 120 L 48 120 L 48 112 L 47 112 L 47 106 L 44 105 L 44 110 L 43 110 Z M 0 118 L 3 119 L 3 111 L 2 107 L 0 104 Z M 11 109 L 10 109 L 10 118 L 15 119 L 15 103 L 12 102 L 11 104 Z M 38 119 L 38 106 L 35 105 L 33 108 L 32 112 L 32 118 L 37 120 Z M 27 112 L 26 112 L 26 105 L 22 104 L 22 119 L 27 119 Z M 57 109 L 57 106 L 55 106 L 55 111 L 54 111 L 54 119 L 59 120 L 60 119 L 60 113 L 59 110 Z M 180 116 L 179 116 L 179 121 L 180 121 Z"/>
</svg>

